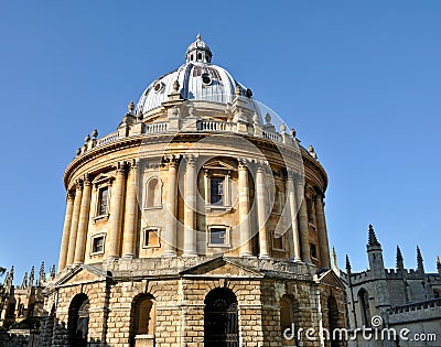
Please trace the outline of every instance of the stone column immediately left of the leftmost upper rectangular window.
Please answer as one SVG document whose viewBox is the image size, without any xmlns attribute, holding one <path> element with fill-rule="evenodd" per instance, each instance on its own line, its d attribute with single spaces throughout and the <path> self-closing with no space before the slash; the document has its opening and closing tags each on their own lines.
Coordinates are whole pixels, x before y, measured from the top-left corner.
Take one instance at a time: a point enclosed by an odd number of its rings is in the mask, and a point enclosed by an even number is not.
<svg viewBox="0 0 441 347">
<path fill-rule="evenodd" d="M 90 193 L 92 193 L 92 184 L 88 176 L 86 175 L 83 181 L 83 198 L 82 198 L 82 206 L 79 208 L 79 221 L 78 221 L 78 232 L 75 245 L 74 263 L 84 262 L 84 253 L 86 249 L 86 239 L 87 239 L 87 227 L 88 227 L 89 212 L 90 212 Z"/>
</svg>

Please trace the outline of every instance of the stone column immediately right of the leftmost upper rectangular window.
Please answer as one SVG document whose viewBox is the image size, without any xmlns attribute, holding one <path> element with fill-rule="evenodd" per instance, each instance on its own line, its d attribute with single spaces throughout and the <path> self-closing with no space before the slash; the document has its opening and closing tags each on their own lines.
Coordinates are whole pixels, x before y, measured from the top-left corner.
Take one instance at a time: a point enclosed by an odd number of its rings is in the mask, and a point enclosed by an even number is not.
<svg viewBox="0 0 441 347">
<path fill-rule="evenodd" d="M 110 228 L 106 238 L 105 259 L 119 256 L 119 241 L 122 223 L 122 200 L 126 180 L 125 163 L 117 163 L 117 177 L 110 192 Z"/>
</svg>

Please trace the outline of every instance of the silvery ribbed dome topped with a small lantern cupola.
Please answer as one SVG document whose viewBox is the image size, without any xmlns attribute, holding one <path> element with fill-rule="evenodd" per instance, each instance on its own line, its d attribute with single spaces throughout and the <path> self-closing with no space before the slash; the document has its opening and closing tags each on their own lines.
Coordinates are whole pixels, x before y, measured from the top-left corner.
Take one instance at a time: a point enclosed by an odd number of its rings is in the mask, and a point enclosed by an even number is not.
<svg viewBox="0 0 441 347">
<path fill-rule="evenodd" d="M 183 99 L 217 104 L 233 102 L 239 93 L 251 97 L 251 90 L 238 83 L 225 68 L 211 64 L 212 52 L 197 35 L 196 41 L 186 50 L 186 63 L 176 71 L 153 80 L 142 93 L 136 112 L 142 115 L 161 106 L 174 91 L 179 83 L 179 93 Z"/>
</svg>

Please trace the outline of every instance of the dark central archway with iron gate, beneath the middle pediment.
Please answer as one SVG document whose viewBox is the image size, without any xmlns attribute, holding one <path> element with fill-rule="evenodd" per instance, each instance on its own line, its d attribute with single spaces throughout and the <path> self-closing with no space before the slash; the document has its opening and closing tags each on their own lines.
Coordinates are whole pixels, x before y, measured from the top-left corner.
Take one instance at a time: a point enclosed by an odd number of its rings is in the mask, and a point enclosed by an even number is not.
<svg viewBox="0 0 441 347">
<path fill-rule="evenodd" d="M 237 299 L 232 290 L 216 288 L 205 297 L 204 344 L 209 347 L 238 347 Z"/>
</svg>

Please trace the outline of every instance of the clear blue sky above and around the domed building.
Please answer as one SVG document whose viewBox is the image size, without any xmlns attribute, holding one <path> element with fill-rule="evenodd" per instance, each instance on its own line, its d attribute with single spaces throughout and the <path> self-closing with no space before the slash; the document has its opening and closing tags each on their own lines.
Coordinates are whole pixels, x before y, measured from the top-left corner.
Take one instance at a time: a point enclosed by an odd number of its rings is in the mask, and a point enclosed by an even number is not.
<svg viewBox="0 0 441 347">
<path fill-rule="evenodd" d="M 441 2 L 3 1 L 0 264 L 57 263 L 63 172 L 94 128 L 184 62 L 197 33 L 326 169 L 330 243 L 367 265 L 440 253 Z"/>
</svg>

